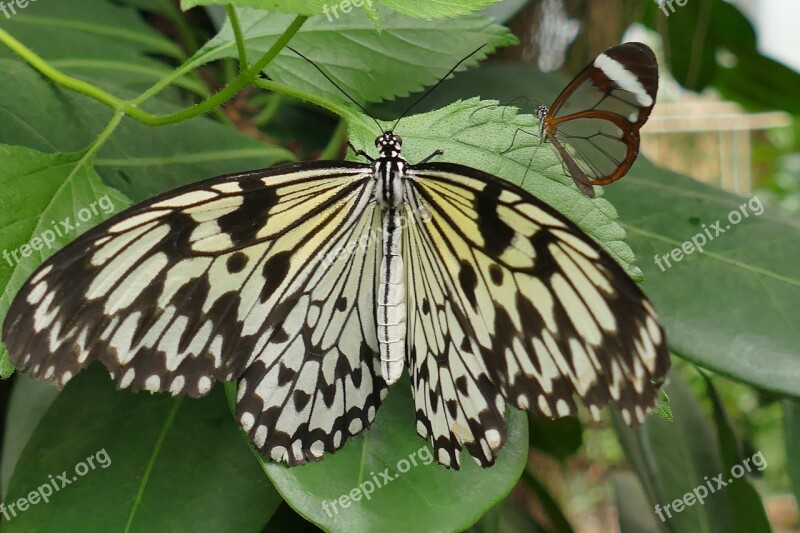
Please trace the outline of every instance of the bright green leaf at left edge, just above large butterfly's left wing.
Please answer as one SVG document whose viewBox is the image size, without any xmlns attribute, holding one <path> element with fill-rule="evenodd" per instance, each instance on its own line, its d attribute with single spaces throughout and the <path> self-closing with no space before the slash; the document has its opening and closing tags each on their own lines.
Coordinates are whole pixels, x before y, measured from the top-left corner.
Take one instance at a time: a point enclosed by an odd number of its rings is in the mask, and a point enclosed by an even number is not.
<svg viewBox="0 0 800 533">
<path fill-rule="evenodd" d="M 0 316 L 46 257 L 129 205 L 100 181 L 84 153 L 0 145 Z M 1 348 L 0 360 L 7 357 Z"/>
</svg>

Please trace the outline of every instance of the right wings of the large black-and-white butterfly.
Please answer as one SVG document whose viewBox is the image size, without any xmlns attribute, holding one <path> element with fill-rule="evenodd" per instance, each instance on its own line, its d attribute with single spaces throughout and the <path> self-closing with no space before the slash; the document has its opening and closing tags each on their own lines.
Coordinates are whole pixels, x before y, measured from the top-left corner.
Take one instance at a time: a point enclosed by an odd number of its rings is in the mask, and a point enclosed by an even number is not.
<svg viewBox="0 0 800 533">
<path fill-rule="evenodd" d="M 460 165 L 409 173 L 409 368 L 417 429 L 458 466 L 505 439 L 508 401 L 544 416 L 614 404 L 641 421 L 669 368 L 652 305 L 577 226 L 523 189 Z M 445 461 L 442 461 L 442 459 Z"/>
</svg>

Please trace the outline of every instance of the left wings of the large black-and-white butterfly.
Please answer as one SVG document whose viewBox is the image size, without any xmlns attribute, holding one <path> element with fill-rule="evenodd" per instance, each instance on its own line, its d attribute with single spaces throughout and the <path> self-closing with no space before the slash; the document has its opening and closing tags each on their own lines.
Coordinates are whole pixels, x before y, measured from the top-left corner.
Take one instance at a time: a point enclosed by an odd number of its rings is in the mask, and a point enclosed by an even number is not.
<svg viewBox="0 0 800 533">
<path fill-rule="evenodd" d="M 20 289 L 12 363 L 59 385 L 93 360 L 120 388 L 201 396 L 239 379 L 237 418 L 291 464 L 339 448 L 386 393 L 377 367 L 368 166 L 214 178 L 88 231 Z M 376 373 L 376 369 L 378 369 Z"/>
</svg>

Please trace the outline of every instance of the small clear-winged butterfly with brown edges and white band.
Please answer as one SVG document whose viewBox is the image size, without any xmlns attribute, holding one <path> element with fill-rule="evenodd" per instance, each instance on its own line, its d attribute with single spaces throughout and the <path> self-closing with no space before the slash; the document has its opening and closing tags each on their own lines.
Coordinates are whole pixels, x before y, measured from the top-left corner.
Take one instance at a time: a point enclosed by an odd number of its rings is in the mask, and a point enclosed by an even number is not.
<svg viewBox="0 0 800 533">
<path fill-rule="evenodd" d="M 539 136 L 552 143 L 567 173 L 587 196 L 593 185 L 624 176 L 639 153 L 639 129 L 658 92 L 658 63 L 646 45 L 624 43 L 598 55 L 539 106 Z"/>
</svg>

